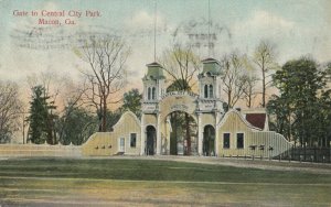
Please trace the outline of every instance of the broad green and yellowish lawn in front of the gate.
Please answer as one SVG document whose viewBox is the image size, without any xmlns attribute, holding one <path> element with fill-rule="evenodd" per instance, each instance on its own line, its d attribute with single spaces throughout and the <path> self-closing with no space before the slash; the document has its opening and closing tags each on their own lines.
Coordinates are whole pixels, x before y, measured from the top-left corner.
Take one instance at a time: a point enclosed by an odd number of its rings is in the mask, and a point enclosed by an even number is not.
<svg viewBox="0 0 331 207">
<path fill-rule="evenodd" d="M 331 174 L 139 159 L 0 161 L 0 206 L 330 206 Z"/>
</svg>

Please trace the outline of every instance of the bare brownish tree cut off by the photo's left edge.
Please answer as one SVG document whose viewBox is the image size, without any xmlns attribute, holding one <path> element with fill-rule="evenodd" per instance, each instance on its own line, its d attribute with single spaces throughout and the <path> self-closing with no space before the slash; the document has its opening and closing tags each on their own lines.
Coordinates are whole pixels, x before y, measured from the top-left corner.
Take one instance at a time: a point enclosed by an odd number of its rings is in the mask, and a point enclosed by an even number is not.
<svg viewBox="0 0 331 207">
<path fill-rule="evenodd" d="M 10 142 L 18 128 L 21 109 L 18 85 L 0 81 L 0 143 Z"/>
</svg>

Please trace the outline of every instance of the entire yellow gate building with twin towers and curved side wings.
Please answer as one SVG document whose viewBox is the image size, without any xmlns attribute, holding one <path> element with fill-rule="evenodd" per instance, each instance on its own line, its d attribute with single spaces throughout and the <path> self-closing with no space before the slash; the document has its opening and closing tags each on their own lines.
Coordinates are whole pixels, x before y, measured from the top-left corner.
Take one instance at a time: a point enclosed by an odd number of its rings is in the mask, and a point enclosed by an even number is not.
<svg viewBox="0 0 331 207">
<path fill-rule="evenodd" d="M 121 151 L 136 155 L 274 157 L 291 148 L 282 135 L 268 131 L 264 109 L 225 111 L 221 65 L 213 58 L 202 64 L 199 94 L 167 92 L 162 66 L 148 64 L 142 78 L 141 119 L 125 112 L 113 132 L 92 135 L 83 145 L 83 154 L 113 155 Z M 113 148 L 99 150 L 106 145 Z"/>
</svg>

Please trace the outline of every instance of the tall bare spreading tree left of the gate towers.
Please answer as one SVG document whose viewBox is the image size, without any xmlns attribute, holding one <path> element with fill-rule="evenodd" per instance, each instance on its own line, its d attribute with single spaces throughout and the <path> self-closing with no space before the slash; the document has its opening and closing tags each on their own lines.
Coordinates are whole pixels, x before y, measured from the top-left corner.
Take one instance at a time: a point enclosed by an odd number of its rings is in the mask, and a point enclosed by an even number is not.
<svg viewBox="0 0 331 207">
<path fill-rule="evenodd" d="M 88 80 L 85 95 L 96 108 L 99 131 L 106 131 L 108 105 L 119 102 L 116 95 L 125 85 L 125 63 L 130 48 L 117 36 L 92 36 L 75 53 L 89 66 L 82 70 Z"/>
</svg>

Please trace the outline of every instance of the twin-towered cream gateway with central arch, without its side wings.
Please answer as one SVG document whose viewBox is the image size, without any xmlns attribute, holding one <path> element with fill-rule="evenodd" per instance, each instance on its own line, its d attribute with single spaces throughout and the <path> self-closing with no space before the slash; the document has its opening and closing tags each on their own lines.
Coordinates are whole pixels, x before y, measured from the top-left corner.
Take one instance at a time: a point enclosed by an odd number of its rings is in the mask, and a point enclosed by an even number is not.
<svg viewBox="0 0 331 207">
<path fill-rule="evenodd" d="M 157 154 L 170 154 L 170 113 L 183 111 L 197 123 L 197 154 L 215 155 L 217 140 L 212 139 L 213 152 L 204 153 L 204 129 L 211 126 L 216 129 L 217 120 L 224 115 L 221 102 L 221 66 L 215 59 L 209 58 L 202 62 L 203 72 L 199 74 L 199 95 L 188 91 L 166 92 L 163 68 L 158 63 L 148 64 L 147 75 L 143 81 L 143 101 L 141 117 L 141 152 L 146 152 L 148 126 L 157 127 Z M 206 128 L 209 129 L 209 128 Z M 214 130 L 215 137 L 215 130 Z M 184 138 L 186 148 L 189 138 Z M 190 140 L 191 142 L 191 140 Z"/>
</svg>

